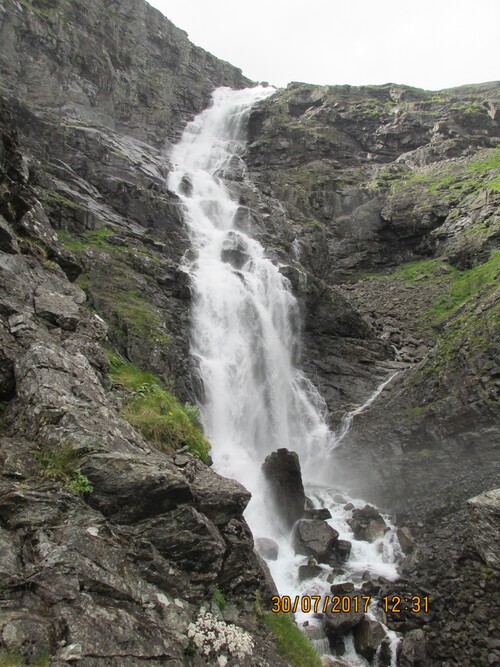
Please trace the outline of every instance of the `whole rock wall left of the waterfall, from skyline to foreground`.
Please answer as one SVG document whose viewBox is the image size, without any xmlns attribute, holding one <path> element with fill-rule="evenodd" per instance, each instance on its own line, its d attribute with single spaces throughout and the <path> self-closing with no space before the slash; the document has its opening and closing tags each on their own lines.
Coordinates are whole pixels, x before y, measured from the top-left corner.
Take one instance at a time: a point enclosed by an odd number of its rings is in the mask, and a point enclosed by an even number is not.
<svg viewBox="0 0 500 667">
<path fill-rule="evenodd" d="M 1 660 L 206 664 L 187 636 L 204 604 L 251 633 L 245 664 L 284 664 L 249 494 L 189 452 L 188 239 L 163 153 L 246 80 L 143 2 L 2 2 L 0 34 Z"/>
</svg>

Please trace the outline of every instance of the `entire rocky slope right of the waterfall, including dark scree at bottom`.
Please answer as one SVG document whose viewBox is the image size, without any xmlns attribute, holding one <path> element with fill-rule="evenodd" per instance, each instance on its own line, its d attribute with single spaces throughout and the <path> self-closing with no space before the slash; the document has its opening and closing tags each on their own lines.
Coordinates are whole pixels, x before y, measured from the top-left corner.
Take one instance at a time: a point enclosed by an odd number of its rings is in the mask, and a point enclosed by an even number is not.
<svg viewBox="0 0 500 667">
<path fill-rule="evenodd" d="M 389 616 L 406 633 L 402 665 L 500 660 L 498 573 L 475 548 L 489 535 L 498 549 L 498 510 L 479 538 L 466 509 L 500 483 L 499 90 L 291 84 L 250 123 L 270 243 L 289 240 L 402 362 L 334 454 L 338 484 L 417 540 L 383 588 L 433 601 Z M 324 381 L 332 347 L 317 354 L 307 329 L 305 363 Z"/>
</svg>

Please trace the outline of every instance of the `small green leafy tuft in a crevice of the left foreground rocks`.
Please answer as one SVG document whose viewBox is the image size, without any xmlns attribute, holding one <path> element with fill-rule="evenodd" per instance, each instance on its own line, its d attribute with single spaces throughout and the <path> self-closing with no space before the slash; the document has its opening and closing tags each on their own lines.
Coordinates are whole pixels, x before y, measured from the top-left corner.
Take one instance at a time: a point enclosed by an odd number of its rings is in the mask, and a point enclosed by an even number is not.
<svg viewBox="0 0 500 667">
<path fill-rule="evenodd" d="M 92 484 L 78 467 L 82 452 L 76 451 L 68 440 L 42 446 L 34 451 L 34 456 L 42 477 L 64 482 L 64 488 L 72 493 L 92 493 Z"/>
</svg>

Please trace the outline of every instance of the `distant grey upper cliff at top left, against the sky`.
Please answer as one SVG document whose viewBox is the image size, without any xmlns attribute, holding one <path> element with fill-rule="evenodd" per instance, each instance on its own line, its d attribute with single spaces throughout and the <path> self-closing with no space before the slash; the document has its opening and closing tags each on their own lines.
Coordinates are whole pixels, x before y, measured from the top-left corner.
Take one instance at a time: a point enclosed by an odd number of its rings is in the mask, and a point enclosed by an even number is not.
<svg viewBox="0 0 500 667">
<path fill-rule="evenodd" d="M 51 119 L 161 146 L 241 70 L 189 42 L 143 0 L 2 0 L 2 88 Z"/>
</svg>

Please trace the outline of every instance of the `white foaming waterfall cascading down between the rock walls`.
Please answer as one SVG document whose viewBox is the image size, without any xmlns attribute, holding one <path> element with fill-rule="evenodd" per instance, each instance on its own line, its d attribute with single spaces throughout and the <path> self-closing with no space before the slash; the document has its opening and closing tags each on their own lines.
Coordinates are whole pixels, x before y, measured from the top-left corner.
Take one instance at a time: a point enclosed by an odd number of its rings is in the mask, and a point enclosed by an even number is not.
<svg viewBox="0 0 500 667">
<path fill-rule="evenodd" d="M 215 91 L 212 106 L 186 127 L 173 149 L 169 187 L 184 204 L 196 255 L 186 260 L 195 295 L 192 354 L 203 380 L 201 418 L 214 467 L 251 491 L 247 521 L 255 537 L 279 543 L 280 557 L 270 563 L 271 572 L 282 594 L 295 595 L 311 593 L 311 586 L 327 592 L 327 573 L 307 582 L 309 588 L 298 583 L 303 557 L 295 555 L 266 502 L 265 457 L 279 447 L 297 452 L 308 495 L 332 511 L 330 523 L 341 537 L 352 541 L 352 533 L 334 491 L 314 487 L 318 462 L 331 452 L 335 437 L 325 421 L 323 399 L 294 364 L 300 343 L 297 301 L 260 243 L 237 228 L 238 203 L 222 177 L 242 168 L 249 111 L 273 92 L 264 87 Z M 387 553 L 390 540 L 354 541 L 352 575 L 370 569 L 395 577 L 393 554 Z"/>
</svg>

